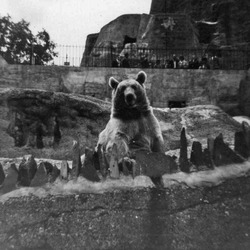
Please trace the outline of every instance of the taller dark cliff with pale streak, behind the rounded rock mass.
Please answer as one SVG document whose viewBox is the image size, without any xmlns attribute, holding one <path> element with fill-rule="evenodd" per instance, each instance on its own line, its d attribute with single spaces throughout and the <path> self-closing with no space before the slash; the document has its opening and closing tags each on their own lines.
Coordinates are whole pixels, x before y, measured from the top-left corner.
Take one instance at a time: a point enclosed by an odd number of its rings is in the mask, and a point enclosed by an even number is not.
<svg viewBox="0 0 250 250">
<path fill-rule="evenodd" d="M 198 23 L 200 42 L 242 46 L 250 43 L 249 11 L 248 0 L 152 0 L 150 14 L 184 12 Z"/>
</svg>

